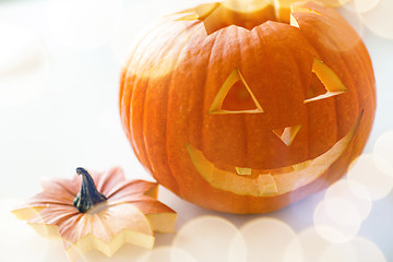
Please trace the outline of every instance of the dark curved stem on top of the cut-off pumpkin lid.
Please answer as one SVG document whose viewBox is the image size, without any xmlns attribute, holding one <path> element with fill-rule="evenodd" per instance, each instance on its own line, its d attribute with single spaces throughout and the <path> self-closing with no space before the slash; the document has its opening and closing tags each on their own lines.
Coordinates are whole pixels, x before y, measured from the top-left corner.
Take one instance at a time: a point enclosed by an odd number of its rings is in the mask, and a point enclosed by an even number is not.
<svg viewBox="0 0 393 262">
<path fill-rule="evenodd" d="M 86 169 L 79 167 L 76 168 L 76 174 L 82 175 L 82 183 L 81 191 L 74 199 L 73 205 L 79 212 L 86 213 L 94 205 L 106 201 L 107 198 L 98 192 L 92 176 L 86 171 Z"/>
</svg>

